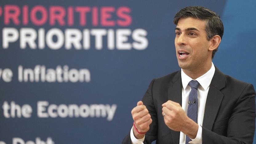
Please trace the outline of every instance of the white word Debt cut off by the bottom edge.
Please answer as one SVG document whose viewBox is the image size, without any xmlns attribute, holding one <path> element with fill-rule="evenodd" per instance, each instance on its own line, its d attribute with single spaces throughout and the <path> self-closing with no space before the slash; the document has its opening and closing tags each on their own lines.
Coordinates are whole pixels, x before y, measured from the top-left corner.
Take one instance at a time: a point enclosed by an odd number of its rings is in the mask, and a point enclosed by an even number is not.
<svg viewBox="0 0 256 144">
<path fill-rule="evenodd" d="M 0 144 L 6 144 L 3 141 L 0 141 Z M 22 138 L 13 138 L 12 139 L 12 144 L 54 144 L 54 141 L 52 138 L 48 137 L 46 141 L 41 140 L 41 138 L 35 138 L 35 141 L 24 141 Z"/>
</svg>

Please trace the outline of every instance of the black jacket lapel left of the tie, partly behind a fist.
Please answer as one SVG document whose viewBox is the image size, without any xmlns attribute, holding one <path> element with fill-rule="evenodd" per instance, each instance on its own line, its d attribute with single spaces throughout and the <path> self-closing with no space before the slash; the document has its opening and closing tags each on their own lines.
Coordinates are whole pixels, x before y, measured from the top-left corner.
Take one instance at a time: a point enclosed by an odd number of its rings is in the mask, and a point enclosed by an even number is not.
<svg viewBox="0 0 256 144">
<path fill-rule="evenodd" d="M 168 100 L 178 102 L 182 105 L 182 82 L 181 82 L 181 71 L 178 71 L 174 76 L 173 81 L 168 86 Z M 179 143 L 180 132 L 171 130 L 173 143 Z"/>
</svg>

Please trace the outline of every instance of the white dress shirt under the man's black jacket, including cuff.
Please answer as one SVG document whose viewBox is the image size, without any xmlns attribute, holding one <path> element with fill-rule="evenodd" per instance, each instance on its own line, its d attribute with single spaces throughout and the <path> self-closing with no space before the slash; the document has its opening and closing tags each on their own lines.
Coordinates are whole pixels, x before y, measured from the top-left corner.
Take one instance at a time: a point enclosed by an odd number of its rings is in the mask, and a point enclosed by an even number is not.
<svg viewBox="0 0 256 144">
<path fill-rule="evenodd" d="M 190 141 L 190 144 L 202 144 L 202 125 L 203 125 L 203 118 L 204 118 L 204 111 L 205 111 L 205 103 L 206 103 L 206 98 L 207 94 L 209 91 L 210 83 L 212 81 L 213 75 L 215 72 L 215 67 L 212 63 L 212 66 L 210 70 L 208 70 L 205 74 L 200 76 L 199 78 L 195 79 L 200 83 L 200 86 L 198 87 L 198 132 L 197 136 L 195 139 L 192 139 Z M 190 78 L 188 75 L 186 75 L 183 70 L 181 69 L 181 79 L 182 79 L 182 109 L 187 113 L 187 108 L 188 108 L 188 97 L 190 93 L 190 86 L 188 83 L 193 80 Z M 130 132 L 130 137 L 132 144 L 143 144 L 143 141 L 145 139 L 137 139 L 134 137 L 133 134 L 133 128 L 131 129 Z M 182 132 L 180 132 L 180 144 L 185 144 L 186 141 L 186 135 Z"/>
</svg>

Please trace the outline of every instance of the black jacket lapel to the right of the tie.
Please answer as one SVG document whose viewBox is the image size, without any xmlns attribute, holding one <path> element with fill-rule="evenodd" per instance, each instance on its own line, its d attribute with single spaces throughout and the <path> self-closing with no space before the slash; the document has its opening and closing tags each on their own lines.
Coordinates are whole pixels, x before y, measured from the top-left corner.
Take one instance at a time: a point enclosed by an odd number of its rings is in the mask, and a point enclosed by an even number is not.
<svg viewBox="0 0 256 144">
<path fill-rule="evenodd" d="M 225 87 L 225 76 L 215 67 L 214 76 L 206 99 L 203 120 L 203 127 L 208 130 L 212 130 L 214 120 L 218 114 L 219 106 L 224 97 L 220 91 L 223 87 Z"/>
</svg>

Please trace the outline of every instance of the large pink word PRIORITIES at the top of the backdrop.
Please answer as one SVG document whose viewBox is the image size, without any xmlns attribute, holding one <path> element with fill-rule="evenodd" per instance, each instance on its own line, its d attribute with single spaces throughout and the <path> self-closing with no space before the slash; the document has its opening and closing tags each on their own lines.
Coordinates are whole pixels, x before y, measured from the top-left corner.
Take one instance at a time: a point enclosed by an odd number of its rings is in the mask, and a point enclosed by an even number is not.
<svg viewBox="0 0 256 144">
<path fill-rule="evenodd" d="M 132 22 L 131 9 L 127 6 L 49 6 L 42 5 L 29 7 L 24 5 L 0 6 L 0 16 L 3 16 L 3 23 L 8 25 L 35 26 L 49 24 L 50 26 L 73 26 L 76 23 L 80 26 L 129 26 Z M 38 16 L 40 15 L 40 16 Z"/>
</svg>

